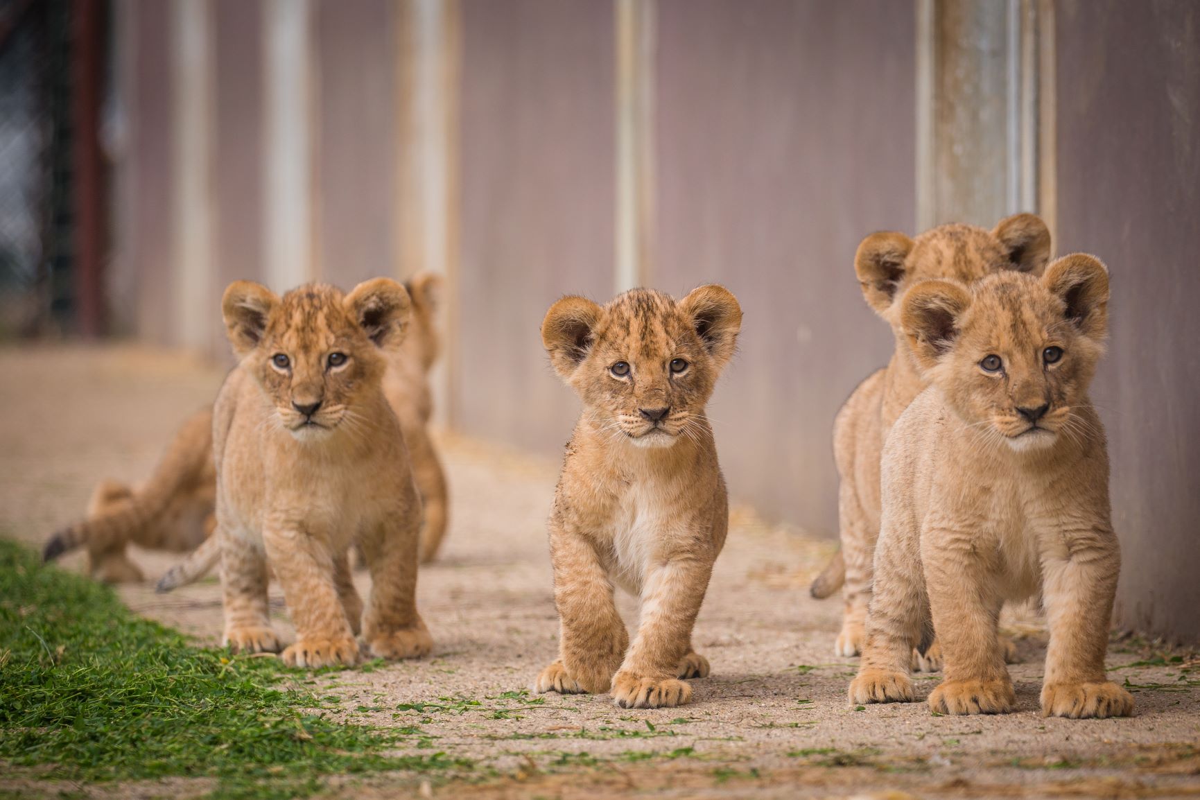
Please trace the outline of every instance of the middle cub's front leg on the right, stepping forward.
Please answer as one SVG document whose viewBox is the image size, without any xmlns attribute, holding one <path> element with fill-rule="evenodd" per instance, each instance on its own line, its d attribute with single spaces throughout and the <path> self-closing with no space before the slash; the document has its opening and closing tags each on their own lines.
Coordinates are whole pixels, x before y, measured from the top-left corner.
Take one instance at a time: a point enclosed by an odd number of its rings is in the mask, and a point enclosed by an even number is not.
<svg viewBox="0 0 1200 800">
<path fill-rule="evenodd" d="M 713 560 L 704 555 L 674 558 L 650 569 L 642 585 L 637 638 L 612 679 L 617 705 L 656 709 L 691 702 L 691 686 L 679 675 L 692 661 L 695 674 L 708 673 L 707 660 L 691 650 L 691 630 L 712 572 Z"/>
</svg>

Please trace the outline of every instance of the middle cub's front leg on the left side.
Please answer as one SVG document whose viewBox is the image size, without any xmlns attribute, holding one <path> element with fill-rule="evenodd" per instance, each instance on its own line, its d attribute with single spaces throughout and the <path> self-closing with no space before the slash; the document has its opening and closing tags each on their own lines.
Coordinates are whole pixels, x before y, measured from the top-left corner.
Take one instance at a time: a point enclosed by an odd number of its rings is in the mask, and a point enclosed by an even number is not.
<svg viewBox="0 0 1200 800">
<path fill-rule="evenodd" d="M 533 690 L 607 692 L 629 646 L 629 633 L 612 601 L 612 582 L 593 542 L 553 522 L 550 560 L 560 628 L 559 657 L 541 670 Z"/>
</svg>

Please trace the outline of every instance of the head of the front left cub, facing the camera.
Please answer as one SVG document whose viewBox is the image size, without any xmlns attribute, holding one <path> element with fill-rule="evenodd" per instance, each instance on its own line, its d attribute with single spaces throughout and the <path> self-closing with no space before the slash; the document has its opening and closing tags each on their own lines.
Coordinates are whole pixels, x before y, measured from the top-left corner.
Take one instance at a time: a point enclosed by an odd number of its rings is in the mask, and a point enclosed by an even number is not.
<svg viewBox="0 0 1200 800">
<path fill-rule="evenodd" d="M 379 391 L 379 350 L 403 339 L 409 299 L 388 278 L 360 283 L 348 295 L 310 284 L 283 297 L 238 281 L 226 289 L 221 311 L 234 351 L 274 403 L 278 423 L 308 440 L 360 421 L 354 407 Z"/>
</svg>

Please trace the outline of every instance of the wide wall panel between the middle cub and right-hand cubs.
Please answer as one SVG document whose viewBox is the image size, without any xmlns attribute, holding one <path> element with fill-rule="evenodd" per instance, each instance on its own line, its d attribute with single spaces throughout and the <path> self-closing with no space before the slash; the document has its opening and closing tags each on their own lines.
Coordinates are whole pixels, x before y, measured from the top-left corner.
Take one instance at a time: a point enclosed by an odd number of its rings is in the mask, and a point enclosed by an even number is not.
<svg viewBox="0 0 1200 800">
<path fill-rule="evenodd" d="M 737 294 L 712 408 L 731 491 L 832 533 L 833 419 L 892 347 L 854 249 L 914 224 L 912 5 L 660 0 L 656 28 L 652 282 Z"/>
</svg>

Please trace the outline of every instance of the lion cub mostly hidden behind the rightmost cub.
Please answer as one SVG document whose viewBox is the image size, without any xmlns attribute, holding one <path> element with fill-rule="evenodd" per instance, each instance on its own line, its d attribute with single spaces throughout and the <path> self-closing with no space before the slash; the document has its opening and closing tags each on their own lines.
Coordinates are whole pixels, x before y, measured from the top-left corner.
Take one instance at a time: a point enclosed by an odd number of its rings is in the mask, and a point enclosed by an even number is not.
<svg viewBox="0 0 1200 800">
<path fill-rule="evenodd" d="M 895 351 L 888 366 L 864 380 L 834 421 L 834 458 L 840 477 L 838 513 L 841 552 L 812 585 L 826 597 L 845 582 L 845 615 L 835 651 L 850 657 L 863 646 L 871 563 L 880 530 L 880 453 L 888 429 L 925 387 L 900 327 L 899 297 L 922 281 L 956 278 L 971 282 L 997 271 L 1039 275 L 1050 257 L 1050 233 L 1038 217 L 1021 213 L 991 231 L 948 224 L 917 239 L 899 233 L 872 234 L 854 255 L 863 296 L 892 325 Z M 1010 648 L 1010 645 L 1009 645 Z M 936 645 L 914 654 L 926 669 L 940 667 Z M 1015 649 L 1010 648 L 1010 657 Z"/>
</svg>

